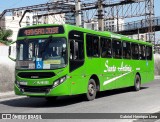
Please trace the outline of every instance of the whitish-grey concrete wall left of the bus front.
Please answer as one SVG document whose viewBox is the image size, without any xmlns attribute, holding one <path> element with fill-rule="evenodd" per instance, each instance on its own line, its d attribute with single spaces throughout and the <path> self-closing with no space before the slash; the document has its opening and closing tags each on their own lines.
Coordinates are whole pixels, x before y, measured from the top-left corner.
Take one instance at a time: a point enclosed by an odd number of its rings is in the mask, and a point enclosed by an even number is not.
<svg viewBox="0 0 160 122">
<path fill-rule="evenodd" d="M 0 93 L 13 91 L 15 63 L 8 58 L 8 47 L 0 46 Z"/>
</svg>

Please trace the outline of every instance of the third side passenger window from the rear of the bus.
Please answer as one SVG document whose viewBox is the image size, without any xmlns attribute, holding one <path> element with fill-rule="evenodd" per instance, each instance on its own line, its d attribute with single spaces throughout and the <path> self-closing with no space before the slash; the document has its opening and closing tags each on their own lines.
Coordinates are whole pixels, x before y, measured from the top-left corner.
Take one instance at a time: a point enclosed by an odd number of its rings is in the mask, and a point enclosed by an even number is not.
<svg viewBox="0 0 160 122">
<path fill-rule="evenodd" d="M 136 59 L 138 60 L 139 59 L 139 48 L 138 48 L 138 44 L 134 44 L 132 43 L 132 59 Z"/>
</svg>

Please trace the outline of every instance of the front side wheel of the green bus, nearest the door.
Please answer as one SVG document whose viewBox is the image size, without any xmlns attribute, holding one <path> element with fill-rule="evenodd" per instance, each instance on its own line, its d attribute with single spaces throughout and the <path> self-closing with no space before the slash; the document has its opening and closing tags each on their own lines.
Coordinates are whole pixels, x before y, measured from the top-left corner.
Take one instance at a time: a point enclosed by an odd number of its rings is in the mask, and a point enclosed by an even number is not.
<svg viewBox="0 0 160 122">
<path fill-rule="evenodd" d="M 94 100 L 97 94 L 96 82 L 94 79 L 90 79 L 88 82 L 88 88 L 86 93 L 86 98 L 88 101 Z"/>
</svg>

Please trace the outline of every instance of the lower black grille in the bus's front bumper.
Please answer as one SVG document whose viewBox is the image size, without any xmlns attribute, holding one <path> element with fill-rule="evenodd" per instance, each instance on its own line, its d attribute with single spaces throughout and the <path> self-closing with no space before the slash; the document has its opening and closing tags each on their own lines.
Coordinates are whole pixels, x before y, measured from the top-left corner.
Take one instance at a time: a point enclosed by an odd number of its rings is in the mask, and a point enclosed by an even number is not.
<svg viewBox="0 0 160 122">
<path fill-rule="evenodd" d="M 52 85 L 49 86 L 24 86 L 20 85 L 20 89 L 23 89 L 23 92 L 30 93 L 47 93 L 52 88 Z"/>
</svg>

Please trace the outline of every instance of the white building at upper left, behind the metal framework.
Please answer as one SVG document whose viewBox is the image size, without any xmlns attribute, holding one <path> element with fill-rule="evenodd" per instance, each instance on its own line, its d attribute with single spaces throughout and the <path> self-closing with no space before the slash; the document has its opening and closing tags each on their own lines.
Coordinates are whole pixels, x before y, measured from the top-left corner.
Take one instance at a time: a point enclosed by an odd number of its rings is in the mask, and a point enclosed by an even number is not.
<svg viewBox="0 0 160 122">
<path fill-rule="evenodd" d="M 15 41 L 17 38 L 18 30 L 21 27 L 37 25 L 37 24 L 74 24 L 75 18 L 72 13 L 67 14 L 56 14 L 43 16 L 36 13 L 26 13 L 21 23 L 20 20 L 23 16 L 24 11 L 16 11 L 12 15 L 4 16 L 0 20 L 0 27 L 4 29 L 11 29 L 13 31 L 12 37 L 9 39 Z"/>
</svg>

